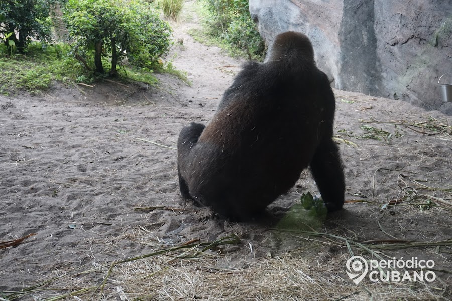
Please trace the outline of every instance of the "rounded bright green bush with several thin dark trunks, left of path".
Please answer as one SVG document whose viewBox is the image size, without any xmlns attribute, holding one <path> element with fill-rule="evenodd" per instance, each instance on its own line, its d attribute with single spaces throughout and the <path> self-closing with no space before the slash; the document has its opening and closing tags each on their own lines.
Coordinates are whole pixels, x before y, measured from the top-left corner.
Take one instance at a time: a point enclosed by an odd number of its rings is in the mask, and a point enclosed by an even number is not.
<svg viewBox="0 0 452 301">
<path fill-rule="evenodd" d="M 139 0 L 68 0 L 63 19 L 73 52 L 89 70 L 105 73 L 102 58 L 111 57 L 110 75 L 123 58 L 152 68 L 170 46 L 169 25 Z"/>
</svg>

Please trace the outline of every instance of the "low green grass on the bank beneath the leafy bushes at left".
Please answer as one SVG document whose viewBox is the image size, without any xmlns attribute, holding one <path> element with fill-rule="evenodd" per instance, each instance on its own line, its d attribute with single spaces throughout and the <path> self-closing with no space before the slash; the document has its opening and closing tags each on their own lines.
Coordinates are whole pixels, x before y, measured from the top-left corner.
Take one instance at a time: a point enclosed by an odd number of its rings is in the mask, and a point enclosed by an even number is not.
<svg viewBox="0 0 452 301">
<path fill-rule="evenodd" d="M 108 58 L 103 60 L 109 66 Z M 191 85 L 187 73 L 176 69 L 171 62 L 155 67 L 159 73 L 174 75 L 187 85 Z M 15 95 L 19 91 L 32 94 L 42 93 L 52 87 L 54 82 L 66 86 L 75 83 L 92 84 L 102 80 L 105 75 L 95 75 L 87 71 L 82 64 L 72 57 L 69 45 L 59 43 L 45 45 L 33 42 L 25 55 L 0 57 L 0 94 Z M 125 64 L 118 70 L 116 79 L 120 82 L 142 82 L 151 86 L 158 84 L 154 71 Z"/>
</svg>

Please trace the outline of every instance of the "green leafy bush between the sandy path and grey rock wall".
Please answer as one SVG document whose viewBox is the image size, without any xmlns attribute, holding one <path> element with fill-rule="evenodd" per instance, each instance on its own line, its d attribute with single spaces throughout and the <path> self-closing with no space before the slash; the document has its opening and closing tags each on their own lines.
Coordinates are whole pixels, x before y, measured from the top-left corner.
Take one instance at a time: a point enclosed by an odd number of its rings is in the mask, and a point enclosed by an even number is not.
<svg viewBox="0 0 452 301">
<path fill-rule="evenodd" d="M 247 0 L 204 0 L 210 13 L 210 34 L 245 51 L 250 59 L 262 58 L 265 44 L 253 22 Z"/>
</svg>

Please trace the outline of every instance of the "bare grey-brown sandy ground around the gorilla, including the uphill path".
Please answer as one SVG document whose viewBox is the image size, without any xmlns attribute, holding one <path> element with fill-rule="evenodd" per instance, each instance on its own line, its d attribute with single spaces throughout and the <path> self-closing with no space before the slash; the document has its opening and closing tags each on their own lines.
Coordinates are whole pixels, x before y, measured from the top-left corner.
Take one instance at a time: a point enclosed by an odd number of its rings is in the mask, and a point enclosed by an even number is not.
<svg viewBox="0 0 452 301">
<path fill-rule="evenodd" d="M 363 292 L 349 299 L 370 299 L 364 291 L 371 291 L 373 300 L 450 299 L 451 116 L 401 101 L 335 91 L 335 134 L 348 202 L 325 223 L 311 226 L 319 233 L 375 240 L 377 245 L 396 240 L 423 243 L 375 252 L 432 259 L 437 270 L 435 282 L 417 288 L 422 293 L 412 293 L 408 286 L 395 292 L 390 284 L 370 281 L 356 286 L 346 274 L 347 245 L 268 231 L 278 227 L 279 218 L 290 212 L 300 194 L 318 193 L 309 171 L 269 206 L 274 219 L 231 222 L 181 198 L 175 150 L 138 140 L 176 147 L 184 125 L 211 120 L 244 62 L 194 41 L 187 31 L 197 26 L 196 16 L 188 14 L 173 26 L 178 42 L 169 58 L 188 73 L 191 85 L 158 75 L 158 88 L 106 82 L 93 88 L 56 85 L 40 96 L 0 96 L 0 241 L 36 233 L 15 247 L 0 249 L 0 299 L 7 295 L 2 291 L 21 290 L 61 270 L 230 234 L 241 236 L 241 241 L 221 250 L 228 258 L 219 259 L 223 267 L 244 269 L 290 251 L 308 266 L 323 268 L 328 283 L 350 293 Z M 143 229 L 152 243 L 134 239 Z M 445 242 L 435 244 L 440 241 Z M 372 257 L 364 249 L 352 249 Z M 315 275 L 310 275 L 312 281 Z M 324 299 L 344 296 L 316 289 Z M 184 299 L 183 293 L 153 293 L 149 299 Z M 187 292 L 185 299 L 190 298 L 194 296 Z"/>
</svg>

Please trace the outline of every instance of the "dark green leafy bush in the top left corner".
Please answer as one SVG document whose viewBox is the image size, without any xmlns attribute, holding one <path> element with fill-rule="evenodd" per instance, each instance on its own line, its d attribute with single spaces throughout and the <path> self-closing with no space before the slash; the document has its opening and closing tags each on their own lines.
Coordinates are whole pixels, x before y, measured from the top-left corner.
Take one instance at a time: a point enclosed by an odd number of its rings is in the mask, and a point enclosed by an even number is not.
<svg viewBox="0 0 452 301">
<path fill-rule="evenodd" d="M 0 38 L 8 49 L 24 52 L 31 39 L 51 40 L 49 18 L 57 0 L 1 0 Z M 8 36 L 8 38 L 6 38 Z"/>
</svg>

